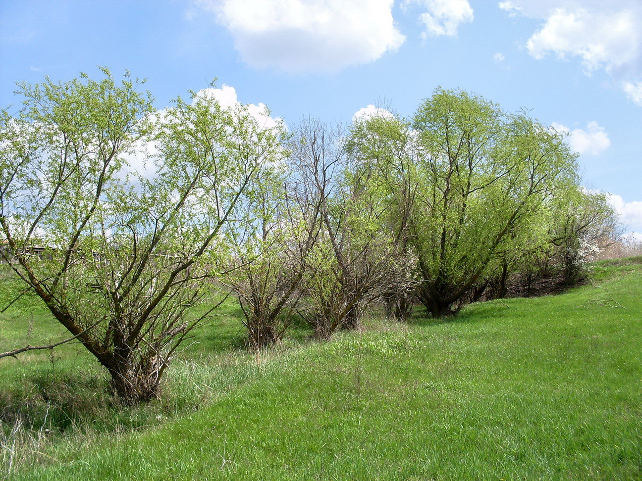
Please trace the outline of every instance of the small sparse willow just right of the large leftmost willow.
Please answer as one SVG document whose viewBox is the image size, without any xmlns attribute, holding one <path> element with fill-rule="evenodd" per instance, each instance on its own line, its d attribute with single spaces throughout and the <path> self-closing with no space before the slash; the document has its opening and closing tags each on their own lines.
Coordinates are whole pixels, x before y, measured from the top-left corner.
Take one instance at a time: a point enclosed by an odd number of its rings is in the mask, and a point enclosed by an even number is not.
<svg viewBox="0 0 642 481">
<path fill-rule="evenodd" d="M 261 178 L 260 190 L 232 232 L 238 268 L 230 285 L 243 311 L 247 344 L 265 348 L 281 341 L 302 296 L 309 254 L 318 239 L 318 204 L 308 203 L 286 164 Z"/>
</svg>

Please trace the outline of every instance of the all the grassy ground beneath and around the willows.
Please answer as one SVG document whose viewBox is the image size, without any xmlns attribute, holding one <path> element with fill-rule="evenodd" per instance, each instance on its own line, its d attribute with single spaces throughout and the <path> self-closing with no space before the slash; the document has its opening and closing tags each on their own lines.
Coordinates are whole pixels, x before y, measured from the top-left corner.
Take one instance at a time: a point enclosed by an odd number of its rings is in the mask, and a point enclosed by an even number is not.
<svg viewBox="0 0 642 481">
<path fill-rule="evenodd" d="M 110 400 L 78 347 L 5 359 L 2 472 L 47 480 L 642 479 L 640 262 L 596 264 L 600 287 L 470 305 L 448 321 L 372 317 L 364 332 L 323 343 L 306 342 L 299 328 L 260 355 L 238 348 L 241 325 L 229 305 L 229 316 L 204 328 L 173 366 L 164 397 L 137 409 Z M 30 312 L 0 315 L 0 350 L 59 339 L 41 311 L 30 327 Z M 30 425 L 18 428 L 25 418 Z"/>
</svg>

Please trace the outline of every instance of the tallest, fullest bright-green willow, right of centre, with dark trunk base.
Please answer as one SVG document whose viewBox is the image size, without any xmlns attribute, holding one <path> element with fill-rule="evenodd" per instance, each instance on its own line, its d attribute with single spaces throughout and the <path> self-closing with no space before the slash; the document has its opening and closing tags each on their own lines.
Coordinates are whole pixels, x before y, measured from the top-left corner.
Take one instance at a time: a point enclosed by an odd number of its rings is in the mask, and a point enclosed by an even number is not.
<svg viewBox="0 0 642 481">
<path fill-rule="evenodd" d="M 415 210 L 422 283 L 433 316 L 456 312 L 501 249 L 544 233 L 556 195 L 577 187 L 562 137 L 527 114 L 439 89 L 413 118 L 423 186 Z"/>
</svg>

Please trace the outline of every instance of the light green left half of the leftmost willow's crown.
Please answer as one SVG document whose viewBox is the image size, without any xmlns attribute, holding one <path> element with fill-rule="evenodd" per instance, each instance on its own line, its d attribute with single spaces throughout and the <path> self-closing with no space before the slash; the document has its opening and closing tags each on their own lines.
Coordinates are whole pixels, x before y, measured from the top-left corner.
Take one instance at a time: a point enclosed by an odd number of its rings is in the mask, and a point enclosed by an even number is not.
<svg viewBox="0 0 642 481">
<path fill-rule="evenodd" d="M 21 248 L 64 249 L 78 230 L 96 228 L 87 217 L 118 182 L 128 149 L 148 133 L 152 106 L 137 92 L 141 82 L 126 75 L 119 85 L 103 73 L 101 81 L 21 84 L 24 108 L 3 112 L 1 218 Z"/>
</svg>

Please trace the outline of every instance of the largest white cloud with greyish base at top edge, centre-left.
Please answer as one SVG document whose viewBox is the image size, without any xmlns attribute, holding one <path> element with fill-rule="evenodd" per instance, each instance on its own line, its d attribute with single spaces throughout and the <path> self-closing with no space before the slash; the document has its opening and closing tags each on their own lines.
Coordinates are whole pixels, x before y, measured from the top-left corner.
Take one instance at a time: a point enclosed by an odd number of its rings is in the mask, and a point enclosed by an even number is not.
<svg viewBox="0 0 642 481">
<path fill-rule="evenodd" d="M 405 37 L 394 0 L 195 0 L 225 26 L 245 62 L 288 72 L 377 60 Z"/>
</svg>

